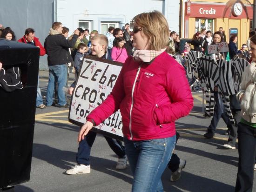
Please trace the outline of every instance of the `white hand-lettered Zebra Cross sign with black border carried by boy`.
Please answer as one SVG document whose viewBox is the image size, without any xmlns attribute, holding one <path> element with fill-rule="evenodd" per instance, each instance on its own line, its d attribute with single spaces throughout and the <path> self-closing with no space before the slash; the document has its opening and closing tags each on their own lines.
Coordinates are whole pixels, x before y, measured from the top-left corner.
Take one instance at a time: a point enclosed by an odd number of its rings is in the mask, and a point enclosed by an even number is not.
<svg viewBox="0 0 256 192">
<path fill-rule="evenodd" d="M 70 102 L 68 119 L 82 126 L 88 114 L 99 106 L 112 91 L 121 71 L 122 63 L 93 56 L 85 57 Z M 121 139 L 121 114 L 118 110 L 92 131 Z"/>
</svg>

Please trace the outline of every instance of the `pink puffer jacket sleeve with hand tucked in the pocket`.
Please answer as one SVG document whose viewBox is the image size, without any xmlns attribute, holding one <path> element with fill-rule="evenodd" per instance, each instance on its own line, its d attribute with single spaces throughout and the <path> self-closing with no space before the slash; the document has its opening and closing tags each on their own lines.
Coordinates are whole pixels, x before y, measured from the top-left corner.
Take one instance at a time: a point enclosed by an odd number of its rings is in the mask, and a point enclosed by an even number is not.
<svg viewBox="0 0 256 192">
<path fill-rule="evenodd" d="M 188 79 L 181 65 L 173 65 L 168 71 L 166 90 L 172 103 L 156 108 L 155 115 L 160 124 L 169 123 L 188 115 L 194 105 Z"/>
</svg>

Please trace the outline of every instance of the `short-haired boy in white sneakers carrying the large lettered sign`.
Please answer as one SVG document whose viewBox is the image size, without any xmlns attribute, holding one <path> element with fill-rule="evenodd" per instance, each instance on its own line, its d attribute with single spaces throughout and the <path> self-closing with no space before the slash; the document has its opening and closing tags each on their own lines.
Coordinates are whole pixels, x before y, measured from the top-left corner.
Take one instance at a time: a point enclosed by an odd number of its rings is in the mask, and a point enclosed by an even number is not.
<svg viewBox="0 0 256 192">
<path fill-rule="evenodd" d="M 91 38 L 91 50 L 92 55 L 98 58 L 106 58 L 106 52 L 108 48 L 108 38 L 103 35 L 95 35 Z M 76 79 L 77 80 L 77 79 Z M 74 87 L 74 83 L 73 83 Z M 74 88 L 70 87 L 68 93 L 72 94 Z M 69 175 L 76 175 L 81 173 L 90 173 L 90 151 L 96 137 L 96 132 L 88 132 L 83 140 L 79 142 L 78 152 L 76 154 L 77 165 L 71 167 L 66 171 Z M 112 139 L 110 137 L 104 136 L 108 142 L 110 148 L 117 154 L 118 162 L 116 169 L 125 169 L 127 167 L 127 157 L 124 151 L 124 146 L 120 140 Z"/>
</svg>

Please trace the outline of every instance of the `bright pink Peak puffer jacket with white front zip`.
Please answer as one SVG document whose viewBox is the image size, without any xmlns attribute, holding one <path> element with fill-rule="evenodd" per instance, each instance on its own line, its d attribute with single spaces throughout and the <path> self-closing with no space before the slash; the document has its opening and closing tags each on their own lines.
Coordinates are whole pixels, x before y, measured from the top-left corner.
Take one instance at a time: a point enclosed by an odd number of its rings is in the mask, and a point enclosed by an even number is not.
<svg viewBox="0 0 256 192">
<path fill-rule="evenodd" d="M 175 120 L 189 114 L 193 97 L 184 68 L 163 52 L 151 63 L 124 63 L 112 92 L 87 117 L 96 126 L 120 108 L 122 132 L 130 140 L 175 135 Z"/>
</svg>

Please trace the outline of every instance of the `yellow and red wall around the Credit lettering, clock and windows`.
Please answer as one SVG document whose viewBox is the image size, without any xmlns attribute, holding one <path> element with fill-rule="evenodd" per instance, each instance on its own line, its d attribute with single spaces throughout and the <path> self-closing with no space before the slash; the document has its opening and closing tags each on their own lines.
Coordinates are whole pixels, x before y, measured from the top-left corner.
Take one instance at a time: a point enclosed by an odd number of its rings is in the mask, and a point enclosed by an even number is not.
<svg viewBox="0 0 256 192">
<path fill-rule="evenodd" d="M 250 2 L 252 3 L 253 0 L 250 0 Z M 188 2 L 188 0 L 183 1 L 183 2 Z M 229 30 L 232 28 L 236 28 L 238 29 L 238 48 L 241 48 L 243 43 L 246 43 L 248 37 L 249 37 L 249 30 L 250 30 L 250 20 L 252 19 L 252 7 L 249 5 L 249 3 L 245 3 L 246 6 L 246 10 L 248 13 L 248 17 L 246 15 L 246 11 L 245 9 L 243 9 L 243 13 L 240 16 L 233 16 L 231 14 L 231 7 L 229 7 L 227 10 L 227 3 L 230 2 L 229 0 L 205 0 L 205 1 L 200 1 L 200 0 L 190 0 L 191 4 L 190 4 L 190 10 L 191 13 L 188 14 L 188 4 L 183 4 L 184 5 L 184 9 L 185 9 L 185 16 L 184 16 L 184 20 L 186 22 L 188 22 L 188 25 L 185 26 L 183 23 L 185 23 L 184 21 L 182 22 L 182 30 L 185 31 L 184 33 L 184 37 L 187 38 L 192 38 L 193 35 L 195 34 L 197 30 L 197 28 L 195 27 L 195 23 L 196 20 L 212 20 L 213 23 L 213 27 L 211 29 L 212 32 L 216 32 L 218 31 L 219 27 L 223 27 L 223 30 L 225 31 L 226 34 L 226 40 L 227 42 L 229 42 Z M 211 10 L 211 9 L 215 9 L 215 13 L 214 14 L 202 14 L 199 13 L 199 8 L 203 7 L 203 10 Z M 225 9 L 224 9 L 225 8 Z M 182 7 L 183 9 L 183 7 Z M 223 12 L 225 11 L 225 13 Z M 223 13 L 224 13 L 224 17 L 223 17 Z M 200 22 L 199 22 L 199 25 Z M 200 29 L 199 29 L 200 30 Z M 208 30 L 208 29 L 207 29 Z"/>
</svg>

